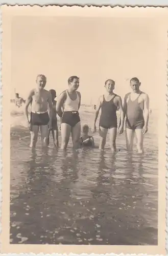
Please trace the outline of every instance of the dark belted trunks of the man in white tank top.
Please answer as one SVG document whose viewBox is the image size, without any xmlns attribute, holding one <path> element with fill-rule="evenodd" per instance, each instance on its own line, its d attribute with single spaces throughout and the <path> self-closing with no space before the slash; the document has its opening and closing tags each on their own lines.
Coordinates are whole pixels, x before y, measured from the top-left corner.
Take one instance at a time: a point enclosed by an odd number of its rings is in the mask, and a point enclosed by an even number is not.
<svg viewBox="0 0 168 256">
<path fill-rule="evenodd" d="M 61 123 L 66 123 L 69 124 L 71 127 L 74 127 L 79 122 L 80 117 L 78 111 L 65 111 L 62 115 Z"/>
</svg>

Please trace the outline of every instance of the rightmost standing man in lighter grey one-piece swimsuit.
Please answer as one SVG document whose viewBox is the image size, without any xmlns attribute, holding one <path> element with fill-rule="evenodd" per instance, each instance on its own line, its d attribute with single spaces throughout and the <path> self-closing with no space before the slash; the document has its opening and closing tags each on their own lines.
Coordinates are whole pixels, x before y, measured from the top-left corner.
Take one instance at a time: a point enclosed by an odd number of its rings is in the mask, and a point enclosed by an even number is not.
<svg viewBox="0 0 168 256">
<path fill-rule="evenodd" d="M 130 80 L 131 93 L 124 98 L 124 115 L 126 116 L 127 150 L 132 151 L 134 136 L 138 153 L 143 152 L 143 135 L 148 132 L 149 96 L 139 90 L 140 82 L 137 77 Z"/>
</svg>

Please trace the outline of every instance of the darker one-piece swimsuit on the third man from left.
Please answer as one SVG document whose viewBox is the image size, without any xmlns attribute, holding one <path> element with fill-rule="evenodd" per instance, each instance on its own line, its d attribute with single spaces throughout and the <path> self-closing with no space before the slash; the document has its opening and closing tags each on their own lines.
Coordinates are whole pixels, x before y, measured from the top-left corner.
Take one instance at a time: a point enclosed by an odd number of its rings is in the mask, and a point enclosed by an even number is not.
<svg viewBox="0 0 168 256">
<path fill-rule="evenodd" d="M 106 101 L 103 95 L 102 113 L 100 116 L 99 126 L 105 129 L 117 128 L 117 106 L 114 104 L 115 96 L 116 94 L 110 101 Z"/>
</svg>

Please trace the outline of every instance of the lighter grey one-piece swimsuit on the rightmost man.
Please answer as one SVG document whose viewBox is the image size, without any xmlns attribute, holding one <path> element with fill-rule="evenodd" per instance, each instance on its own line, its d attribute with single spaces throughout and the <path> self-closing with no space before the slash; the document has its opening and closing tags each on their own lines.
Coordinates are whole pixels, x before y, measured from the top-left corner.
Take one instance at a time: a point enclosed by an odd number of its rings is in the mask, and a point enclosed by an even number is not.
<svg viewBox="0 0 168 256">
<path fill-rule="evenodd" d="M 131 130 L 142 129 L 145 124 L 143 118 L 143 102 L 138 102 L 139 96 L 134 101 L 129 96 L 127 103 L 126 127 Z"/>
</svg>

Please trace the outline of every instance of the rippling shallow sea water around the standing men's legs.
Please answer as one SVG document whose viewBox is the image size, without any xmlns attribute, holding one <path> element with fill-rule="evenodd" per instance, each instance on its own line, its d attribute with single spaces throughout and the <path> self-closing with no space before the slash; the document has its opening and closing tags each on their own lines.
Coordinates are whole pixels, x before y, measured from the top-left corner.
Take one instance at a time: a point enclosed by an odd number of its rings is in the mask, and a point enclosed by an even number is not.
<svg viewBox="0 0 168 256">
<path fill-rule="evenodd" d="M 83 123 L 93 110 L 81 108 Z M 145 153 L 113 155 L 98 148 L 29 148 L 25 118 L 11 112 L 10 243 L 156 245 L 158 212 L 157 113 L 150 115 Z M 60 135 L 59 135 L 60 140 Z M 99 144 L 98 132 L 94 134 Z"/>
</svg>

